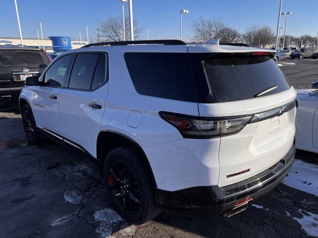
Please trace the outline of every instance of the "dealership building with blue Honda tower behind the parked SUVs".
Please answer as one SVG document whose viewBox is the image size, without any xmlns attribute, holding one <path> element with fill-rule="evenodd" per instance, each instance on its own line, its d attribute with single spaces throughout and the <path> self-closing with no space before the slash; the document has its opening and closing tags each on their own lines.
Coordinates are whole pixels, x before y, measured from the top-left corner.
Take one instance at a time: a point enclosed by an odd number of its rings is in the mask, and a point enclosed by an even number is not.
<svg viewBox="0 0 318 238">
<path fill-rule="evenodd" d="M 73 41 L 68 36 L 50 36 L 49 39 L 43 39 L 45 51 L 47 52 L 63 52 L 72 49 L 78 49 L 81 46 L 87 45 L 86 41 Z M 4 45 L 20 45 L 21 40 L 18 37 L 0 37 L 0 46 Z M 42 39 L 23 38 L 25 46 L 35 46 L 43 48 Z"/>
</svg>

